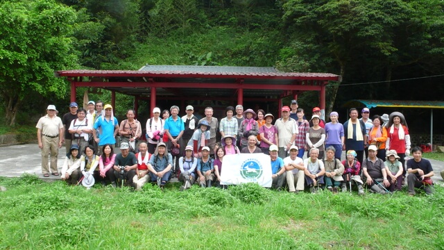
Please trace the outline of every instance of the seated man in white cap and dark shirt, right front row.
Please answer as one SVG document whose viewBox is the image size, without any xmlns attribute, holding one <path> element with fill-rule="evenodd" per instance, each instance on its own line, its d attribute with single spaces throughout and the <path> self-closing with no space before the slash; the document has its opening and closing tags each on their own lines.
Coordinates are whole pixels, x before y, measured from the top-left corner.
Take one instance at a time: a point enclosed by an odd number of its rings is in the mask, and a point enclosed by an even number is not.
<svg viewBox="0 0 444 250">
<path fill-rule="evenodd" d="M 376 145 L 368 147 L 368 158 L 362 163 L 362 172 L 364 181 L 370 190 L 378 194 L 386 194 L 386 188 L 390 187 L 387 179 L 386 167 L 384 161 L 376 157 Z"/>
</svg>

